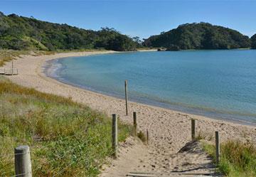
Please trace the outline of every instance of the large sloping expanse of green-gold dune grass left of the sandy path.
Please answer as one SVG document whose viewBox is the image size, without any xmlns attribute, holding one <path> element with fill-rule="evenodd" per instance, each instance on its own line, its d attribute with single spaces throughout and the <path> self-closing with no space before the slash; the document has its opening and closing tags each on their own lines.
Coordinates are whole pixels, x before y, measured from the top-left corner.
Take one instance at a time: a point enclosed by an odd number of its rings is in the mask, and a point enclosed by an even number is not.
<svg viewBox="0 0 256 177">
<path fill-rule="evenodd" d="M 111 119 L 70 99 L 0 76 L 0 176 L 14 175 L 14 147 L 31 148 L 33 176 L 97 176 L 111 156 Z M 119 122 L 119 141 L 132 129 Z"/>
</svg>

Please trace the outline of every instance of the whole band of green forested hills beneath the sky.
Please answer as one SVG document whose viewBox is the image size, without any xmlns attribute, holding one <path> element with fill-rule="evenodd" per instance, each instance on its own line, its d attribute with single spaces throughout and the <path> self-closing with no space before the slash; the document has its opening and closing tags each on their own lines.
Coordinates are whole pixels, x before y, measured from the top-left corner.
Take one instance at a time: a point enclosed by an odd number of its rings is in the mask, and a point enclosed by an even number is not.
<svg viewBox="0 0 256 177">
<path fill-rule="evenodd" d="M 130 38 L 114 28 L 85 30 L 67 24 L 39 21 L 0 12 L 0 49 L 130 51 L 136 48 L 167 50 L 255 48 L 256 34 L 249 38 L 238 31 L 210 23 L 186 23 L 171 31 L 144 39 Z"/>
</svg>

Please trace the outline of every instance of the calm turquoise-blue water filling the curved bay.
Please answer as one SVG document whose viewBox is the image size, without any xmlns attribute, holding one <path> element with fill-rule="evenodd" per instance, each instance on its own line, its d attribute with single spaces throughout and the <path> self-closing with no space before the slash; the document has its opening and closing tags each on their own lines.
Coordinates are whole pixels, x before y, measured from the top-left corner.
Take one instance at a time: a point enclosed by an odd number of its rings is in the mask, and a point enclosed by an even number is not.
<svg viewBox="0 0 256 177">
<path fill-rule="evenodd" d="M 51 77 L 96 92 L 256 124 L 256 50 L 137 52 L 52 62 Z"/>
</svg>

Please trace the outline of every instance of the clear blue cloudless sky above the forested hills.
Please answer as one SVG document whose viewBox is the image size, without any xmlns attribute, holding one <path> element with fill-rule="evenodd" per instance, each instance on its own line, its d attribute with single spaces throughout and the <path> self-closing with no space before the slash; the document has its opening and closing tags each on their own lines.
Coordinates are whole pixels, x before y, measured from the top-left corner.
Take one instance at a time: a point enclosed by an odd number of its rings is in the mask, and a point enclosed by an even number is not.
<svg viewBox="0 0 256 177">
<path fill-rule="evenodd" d="M 92 30 L 107 26 L 141 39 L 201 21 L 256 33 L 256 0 L 0 0 L 0 11 Z"/>
</svg>

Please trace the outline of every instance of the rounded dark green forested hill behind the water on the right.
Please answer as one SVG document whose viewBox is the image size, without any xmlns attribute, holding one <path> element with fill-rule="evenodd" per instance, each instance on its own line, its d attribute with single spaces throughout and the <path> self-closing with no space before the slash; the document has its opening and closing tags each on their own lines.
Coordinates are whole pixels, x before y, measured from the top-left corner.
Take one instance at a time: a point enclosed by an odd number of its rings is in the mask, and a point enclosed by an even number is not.
<svg viewBox="0 0 256 177">
<path fill-rule="evenodd" d="M 250 48 L 251 41 L 238 31 L 210 23 L 186 23 L 144 41 L 147 47 L 167 50 Z"/>
</svg>

